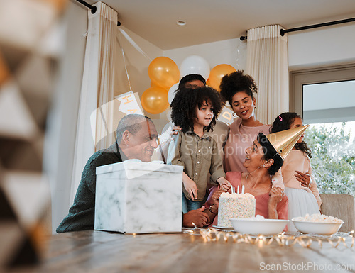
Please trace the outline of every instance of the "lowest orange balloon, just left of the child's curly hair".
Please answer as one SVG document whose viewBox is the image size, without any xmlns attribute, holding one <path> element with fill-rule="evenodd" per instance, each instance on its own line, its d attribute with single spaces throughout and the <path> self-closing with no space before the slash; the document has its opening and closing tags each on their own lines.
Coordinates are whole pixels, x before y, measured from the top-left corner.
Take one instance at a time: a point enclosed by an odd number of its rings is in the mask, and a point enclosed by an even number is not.
<svg viewBox="0 0 355 273">
<path fill-rule="evenodd" d="M 161 87 L 150 87 L 143 92 L 141 103 L 148 113 L 162 113 L 169 107 L 168 91 Z"/>
</svg>

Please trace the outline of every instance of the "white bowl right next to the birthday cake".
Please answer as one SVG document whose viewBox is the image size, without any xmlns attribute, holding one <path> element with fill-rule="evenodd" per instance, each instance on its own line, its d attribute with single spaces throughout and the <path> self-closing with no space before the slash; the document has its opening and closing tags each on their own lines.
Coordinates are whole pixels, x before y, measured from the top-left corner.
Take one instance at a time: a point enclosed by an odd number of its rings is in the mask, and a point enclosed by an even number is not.
<svg viewBox="0 0 355 273">
<path fill-rule="evenodd" d="M 234 230 L 239 233 L 253 235 L 274 235 L 283 231 L 288 220 L 263 219 L 255 220 L 250 218 L 231 218 L 229 219 Z"/>
</svg>

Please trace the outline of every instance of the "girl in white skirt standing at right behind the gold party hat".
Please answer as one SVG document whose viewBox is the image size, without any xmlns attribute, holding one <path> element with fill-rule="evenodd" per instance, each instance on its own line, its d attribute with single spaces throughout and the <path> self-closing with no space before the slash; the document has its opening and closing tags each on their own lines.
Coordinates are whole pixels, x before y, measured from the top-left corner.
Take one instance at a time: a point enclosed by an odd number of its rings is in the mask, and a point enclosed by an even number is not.
<svg viewBox="0 0 355 273">
<path fill-rule="evenodd" d="M 271 133 L 280 132 L 302 126 L 302 118 L 297 113 L 281 113 L 271 127 Z M 281 172 L 285 184 L 285 194 L 288 196 L 288 218 L 320 213 L 320 193 L 312 176 L 310 165 L 311 150 L 303 140 L 302 135 L 293 150 L 290 151 Z M 289 231 L 295 231 L 293 223 L 288 224 Z"/>
</svg>

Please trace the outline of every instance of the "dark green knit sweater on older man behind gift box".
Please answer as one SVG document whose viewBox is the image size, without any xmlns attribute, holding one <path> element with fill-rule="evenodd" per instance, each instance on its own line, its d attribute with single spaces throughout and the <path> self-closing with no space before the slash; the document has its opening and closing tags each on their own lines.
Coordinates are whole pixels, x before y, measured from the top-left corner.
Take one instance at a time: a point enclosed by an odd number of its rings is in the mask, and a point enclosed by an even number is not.
<svg viewBox="0 0 355 273">
<path fill-rule="evenodd" d="M 99 150 L 89 158 L 82 172 L 74 204 L 57 228 L 57 233 L 94 229 L 96 167 L 122 162 L 125 158 L 119 145 L 114 143 L 108 149 Z"/>
</svg>

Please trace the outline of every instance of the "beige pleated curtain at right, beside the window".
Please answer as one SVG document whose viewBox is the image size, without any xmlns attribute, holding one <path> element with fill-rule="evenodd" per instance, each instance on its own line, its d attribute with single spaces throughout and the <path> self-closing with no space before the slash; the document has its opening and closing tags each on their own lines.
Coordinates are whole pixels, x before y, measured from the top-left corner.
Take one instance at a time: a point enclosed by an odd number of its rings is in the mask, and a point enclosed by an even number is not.
<svg viewBox="0 0 355 273">
<path fill-rule="evenodd" d="M 246 74 L 256 80 L 256 115 L 266 124 L 288 111 L 288 35 L 280 30 L 278 25 L 248 30 Z"/>
</svg>

